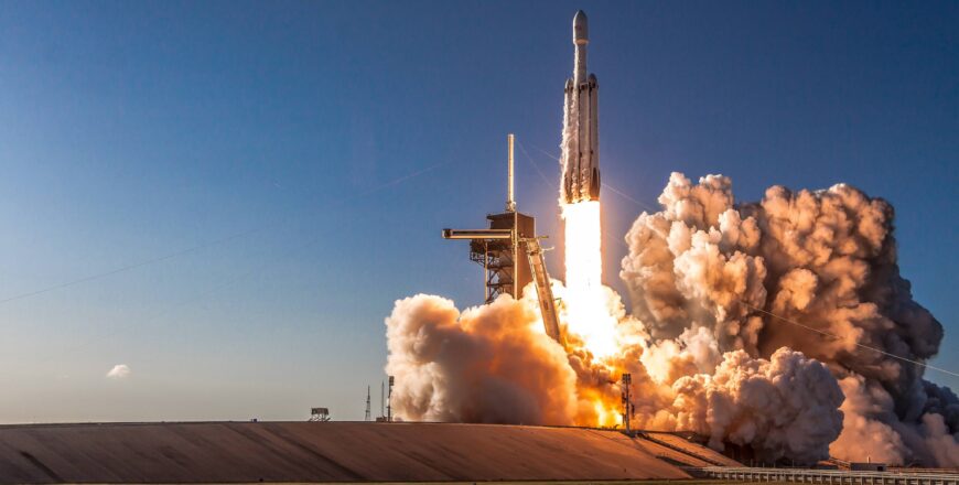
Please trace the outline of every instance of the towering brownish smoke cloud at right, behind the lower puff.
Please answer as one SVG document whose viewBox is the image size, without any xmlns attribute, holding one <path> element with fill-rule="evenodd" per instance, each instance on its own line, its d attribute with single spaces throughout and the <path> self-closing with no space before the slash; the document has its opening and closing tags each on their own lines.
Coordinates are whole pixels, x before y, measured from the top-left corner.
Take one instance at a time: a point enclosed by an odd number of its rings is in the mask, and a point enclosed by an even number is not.
<svg viewBox="0 0 959 485">
<path fill-rule="evenodd" d="M 956 396 L 922 366 L 863 347 L 924 362 L 942 338 L 899 277 L 892 206 L 844 184 L 774 186 L 735 205 L 731 186 L 674 173 L 664 211 L 639 216 L 621 272 L 634 315 L 655 338 L 704 328 L 720 352 L 768 358 L 788 346 L 826 363 L 847 397 L 837 457 L 959 465 Z"/>
</svg>

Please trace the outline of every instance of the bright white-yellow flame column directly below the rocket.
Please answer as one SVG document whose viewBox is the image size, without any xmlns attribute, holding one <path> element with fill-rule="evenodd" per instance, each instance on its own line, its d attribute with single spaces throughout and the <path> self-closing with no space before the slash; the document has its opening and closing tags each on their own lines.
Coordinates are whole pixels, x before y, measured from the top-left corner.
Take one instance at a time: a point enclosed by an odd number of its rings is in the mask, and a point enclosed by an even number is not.
<svg viewBox="0 0 959 485">
<path fill-rule="evenodd" d="M 616 319 L 603 289 L 600 202 L 565 204 L 565 308 L 570 332 L 579 334 L 588 351 L 602 358 L 616 352 Z"/>
</svg>

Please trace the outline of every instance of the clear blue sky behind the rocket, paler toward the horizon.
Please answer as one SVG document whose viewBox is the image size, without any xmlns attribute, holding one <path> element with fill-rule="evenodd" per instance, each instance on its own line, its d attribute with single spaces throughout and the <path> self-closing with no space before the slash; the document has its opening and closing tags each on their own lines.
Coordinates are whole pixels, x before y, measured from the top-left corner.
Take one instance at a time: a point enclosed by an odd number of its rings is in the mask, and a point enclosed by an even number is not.
<svg viewBox="0 0 959 485">
<path fill-rule="evenodd" d="M 890 200 L 959 368 L 957 2 L 2 1 L 0 300 L 205 246 L 0 303 L 0 421 L 362 419 L 396 299 L 481 301 L 440 228 L 500 209 L 509 131 L 556 234 L 579 8 L 604 181 Z M 621 288 L 643 207 L 603 197 Z"/>
</svg>

